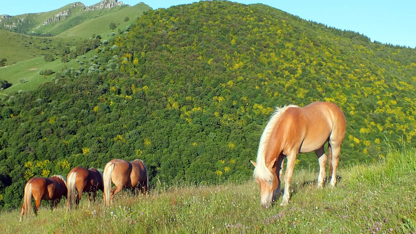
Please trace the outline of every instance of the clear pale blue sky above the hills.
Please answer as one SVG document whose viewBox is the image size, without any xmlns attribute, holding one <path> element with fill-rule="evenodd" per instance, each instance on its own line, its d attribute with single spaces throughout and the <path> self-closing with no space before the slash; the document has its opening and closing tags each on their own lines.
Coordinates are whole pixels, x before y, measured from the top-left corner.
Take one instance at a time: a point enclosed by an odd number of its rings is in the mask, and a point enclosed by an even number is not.
<svg viewBox="0 0 416 234">
<path fill-rule="evenodd" d="M 93 5 L 100 0 L 2 0 L 0 15 L 54 10 L 72 2 Z M 187 0 L 124 0 L 129 5 L 143 1 L 153 9 L 186 4 Z M 416 0 L 237 0 L 263 3 L 277 9 L 344 30 L 352 30 L 383 43 L 416 47 Z"/>
</svg>

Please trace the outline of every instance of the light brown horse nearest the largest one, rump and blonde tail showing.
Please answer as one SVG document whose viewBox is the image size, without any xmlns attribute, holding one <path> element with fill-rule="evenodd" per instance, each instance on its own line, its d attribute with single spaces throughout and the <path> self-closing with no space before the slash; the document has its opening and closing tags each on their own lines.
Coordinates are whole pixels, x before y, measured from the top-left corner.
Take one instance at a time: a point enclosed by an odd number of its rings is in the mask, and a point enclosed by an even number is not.
<svg viewBox="0 0 416 234">
<path fill-rule="evenodd" d="M 121 159 L 113 159 L 108 162 L 104 168 L 104 203 L 108 206 L 113 203 L 114 196 L 121 191 L 121 189 L 134 190 L 139 188 L 143 194 L 149 189 L 149 174 L 147 173 L 146 165 L 140 159 L 127 162 Z M 111 190 L 111 182 L 116 187 Z"/>
</svg>

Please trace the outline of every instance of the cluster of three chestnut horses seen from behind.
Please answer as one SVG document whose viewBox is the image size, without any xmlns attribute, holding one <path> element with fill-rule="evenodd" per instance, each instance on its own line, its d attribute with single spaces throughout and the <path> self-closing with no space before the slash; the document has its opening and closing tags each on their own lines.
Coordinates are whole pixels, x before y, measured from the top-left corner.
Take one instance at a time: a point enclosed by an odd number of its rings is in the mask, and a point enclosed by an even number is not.
<svg viewBox="0 0 416 234">
<path fill-rule="evenodd" d="M 111 189 L 111 183 L 115 185 Z M 25 196 L 23 198 L 20 221 L 24 214 L 28 216 L 32 208 L 32 197 L 35 199 L 33 211 L 37 215 L 40 202 L 50 201 L 50 209 L 56 209 L 62 196 L 67 197 L 67 207 L 72 209 L 74 204 L 77 206 L 82 193 L 88 194 L 88 207 L 90 197 L 95 202 L 98 190 L 103 192 L 104 204 L 109 206 L 113 202 L 114 196 L 121 189 L 131 189 L 132 194 L 140 189 L 143 194 L 149 190 L 149 174 L 146 165 L 140 159 L 127 162 L 121 159 L 113 159 L 106 164 L 104 172 L 97 169 L 85 169 L 74 167 L 69 171 L 67 179 L 61 175 L 53 175 L 50 178 L 33 177 L 25 186 Z M 78 194 L 75 194 L 78 192 Z"/>
</svg>

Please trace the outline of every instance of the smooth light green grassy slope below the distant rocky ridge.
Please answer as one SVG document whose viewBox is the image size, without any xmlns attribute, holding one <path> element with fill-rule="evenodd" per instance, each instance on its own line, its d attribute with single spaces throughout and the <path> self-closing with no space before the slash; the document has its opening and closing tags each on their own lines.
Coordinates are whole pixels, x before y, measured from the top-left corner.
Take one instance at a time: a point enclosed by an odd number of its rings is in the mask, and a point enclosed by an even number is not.
<svg viewBox="0 0 416 234">
<path fill-rule="evenodd" d="M 124 32 L 129 25 L 136 22 L 136 17 L 150 9 L 144 3 L 132 7 L 122 6 L 121 10 L 83 22 L 54 37 L 37 37 L 0 30 L 0 39 L 4 41 L 0 45 L 0 54 L 3 55 L 3 57 L 0 55 L 0 60 L 7 59 L 6 65 L 9 65 L 0 67 L 0 79 L 7 77 L 6 80 L 13 84 L 12 87 L 0 92 L 0 94 L 13 94 L 18 90 L 33 90 L 39 84 L 49 82 L 50 78 L 45 79 L 44 76 L 38 74 L 40 70 L 52 69 L 57 72 L 64 70 L 65 66 L 68 68 L 70 66 L 78 67 L 75 60 L 70 61 L 69 64 L 60 62 L 57 55 L 59 50 L 66 46 L 74 49 L 77 43 L 88 39 L 92 34 L 101 35 L 102 41 L 116 37 L 111 35 L 111 32 L 117 32 L 117 35 L 119 29 Z M 129 20 L 125 21 L 126 17 Z M 109 29 L 110 22 L 116 24 L 117 27 L 114 30 Z M 53 53 L 57 60 L 54 62 L 43 61 L 43 56 L 47 52 Z M 91 57 L 94 55 L 91 55 Z M 32 60 L 36 57 L 42 58 Z M 89 57 L 81 60 L 89 62 L 88 59 Z M 19 63 L 14 64 L 15 62 Z M 26 82 L 19 82 L 21 79 L 25 79 Z"/>
</svg>

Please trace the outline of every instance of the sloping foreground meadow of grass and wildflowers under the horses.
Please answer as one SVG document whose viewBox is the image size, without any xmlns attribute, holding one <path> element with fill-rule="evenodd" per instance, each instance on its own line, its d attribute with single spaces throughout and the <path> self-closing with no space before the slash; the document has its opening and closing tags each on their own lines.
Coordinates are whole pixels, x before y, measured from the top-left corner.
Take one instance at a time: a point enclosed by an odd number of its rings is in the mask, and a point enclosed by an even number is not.
<svg viewBox="0 0 416 234">
<path fill-rule="evenodd" d="M 339 171 L 334 189 L 317 189 L 317 173 L 295 169 L 291 202 L 263 209 L 258 185 L 156 186 L 149 197 L 117 196 L 110 208 L 100 199 L 67 212 L 42 205 L 18 222 L 20 209 L 1 213 L 7 233 L 414 233 L 416 176 L 414 150 L 391 152 L 379 164 Z"/>
</svg>

